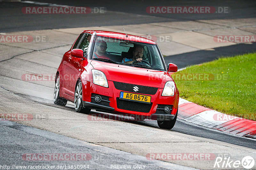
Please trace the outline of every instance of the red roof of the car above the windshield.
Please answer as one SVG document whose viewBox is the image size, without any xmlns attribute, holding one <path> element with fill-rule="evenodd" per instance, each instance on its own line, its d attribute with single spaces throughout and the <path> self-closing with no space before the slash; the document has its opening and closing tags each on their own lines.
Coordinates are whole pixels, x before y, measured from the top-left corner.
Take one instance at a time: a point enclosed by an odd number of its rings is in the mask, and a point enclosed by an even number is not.
<svg viewBox="0 0 256 170">
<path fill-rule="evenodd" d="M 131 34 L 127 34 L 128 37 L 126 37 L 126 34 L 120 33 L 120 32 L 100 31 L 100 30 L 84 30 L 82 33 L 85 33 L 85 32 L 91 33 L 91 34 L 93 32 L 96 32 L 96 34 L 99 36 L 110 37 L 110 38 L 114 38 L 114 39 L 124 39 L 124 40 L 135 41 L 135 42 L 156 44 L 156 42 L 151 39 L 146 39 L 146 38 L 139 37 L 136 35 L 131 35 Z"/>
</svg>

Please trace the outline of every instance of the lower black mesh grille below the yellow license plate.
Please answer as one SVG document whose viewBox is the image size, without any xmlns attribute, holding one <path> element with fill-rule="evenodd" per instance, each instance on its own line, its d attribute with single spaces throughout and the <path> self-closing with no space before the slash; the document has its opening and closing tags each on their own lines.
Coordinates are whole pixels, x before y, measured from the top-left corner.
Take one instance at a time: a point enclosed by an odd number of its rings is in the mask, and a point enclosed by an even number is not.
<svg viewBox="0 0 256 170">
<path fill-rule="evenodd" d="M 130 110 L 130 111 L 138 111 L 143 113 L 148 113 L 151 109 L 152 103 L 140 103 L 133 102 L 116 98 L 116 104 L 118 109 Z"/>
</svg>

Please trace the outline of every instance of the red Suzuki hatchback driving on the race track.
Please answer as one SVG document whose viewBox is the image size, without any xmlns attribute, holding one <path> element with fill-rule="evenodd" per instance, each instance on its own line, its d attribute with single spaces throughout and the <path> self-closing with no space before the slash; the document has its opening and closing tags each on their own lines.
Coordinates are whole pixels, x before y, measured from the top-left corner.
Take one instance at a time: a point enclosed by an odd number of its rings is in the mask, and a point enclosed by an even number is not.
<svg viewBox="0 0 256 170">
<path fill-rule="evenodd" d="M 61 60 L 54 103 L 157 120 L 172 129 L 178 115 L 179 91 L 155 41 L 108 31 L 83 31 Z M 172 73 L 171 73 L 172 74 Z"/>
</svg>

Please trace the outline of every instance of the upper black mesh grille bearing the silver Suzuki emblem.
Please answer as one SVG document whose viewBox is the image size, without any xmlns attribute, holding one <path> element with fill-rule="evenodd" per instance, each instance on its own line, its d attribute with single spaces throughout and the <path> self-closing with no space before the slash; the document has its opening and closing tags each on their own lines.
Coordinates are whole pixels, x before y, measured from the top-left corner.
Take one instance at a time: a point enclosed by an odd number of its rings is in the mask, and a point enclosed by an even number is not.
<svg viewBox="0 0 256 170">
<path fill-rule="evenodd" d="M 128 84 L 128 83 L 122 83 L 117 81 L 113 81 L 113 82 L 116 89 L 129 91 L 133 93 L 135 92 L 135 93 L 146 94 L 146 95 L 155 95 L 158 90 L 158 88 L 156 87 L 140 86 L 136 84 Z M 138 91 L 133 90 L 135 86 L 139 88 Z"/>
</svg>

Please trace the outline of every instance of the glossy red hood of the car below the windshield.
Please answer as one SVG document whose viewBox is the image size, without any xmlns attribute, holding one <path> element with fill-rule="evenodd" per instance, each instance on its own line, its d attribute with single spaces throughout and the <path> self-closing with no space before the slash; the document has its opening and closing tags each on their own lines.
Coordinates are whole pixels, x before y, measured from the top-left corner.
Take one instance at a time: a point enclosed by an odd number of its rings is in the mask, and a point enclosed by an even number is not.
<svg viewBox="0 0 256 170">
<path fill-rule="evenodd" d="M 91 61 L 94 69 L 102 71 L 107 80 L 129 84 L 164 88 L 166 81 L 173 81 L 166 71 L 151 70 L 147 68 L 131 67 L 122 64 L 113 64 L 101 61 Z"/>
</svg>

